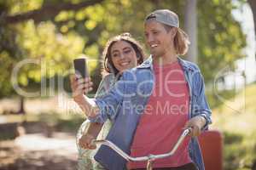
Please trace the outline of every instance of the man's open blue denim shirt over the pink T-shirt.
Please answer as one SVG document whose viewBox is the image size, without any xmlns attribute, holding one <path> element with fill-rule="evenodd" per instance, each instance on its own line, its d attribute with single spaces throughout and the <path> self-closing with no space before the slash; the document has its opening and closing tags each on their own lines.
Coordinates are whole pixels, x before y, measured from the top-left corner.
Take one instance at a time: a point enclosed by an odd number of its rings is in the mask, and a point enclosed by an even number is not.
<svg viewBox="0 0 256 170">
<path fill-rule="evenodd" d="M 189 119 L 198 115 L 203 116 L 207 122 L 203 127 L 205 130 L 212 123 L 212 112 L 207 104 L 203 77 L 197 65 L 180 58 L 178 61 L 182 65 L 189 85 Z M 153 88 L 153 59 L 149 57 L 142 65 L 125 71 L 108 94 L 96 98 L 100 113 L 96 117 L 90 117 L 90 122 L 105 122 L 107 119 L 113 119 L 113 127 L 106 139 L 130 155 L 137 124 L 153 93 Z M 196 137 L 189 142 L 189 156 L 199 170 L 204 170 L 201 149 Z M 109 170 L 126 169 L 127 161 L 106 145 L 100 147 L 95 159 Z"/>
</svg>

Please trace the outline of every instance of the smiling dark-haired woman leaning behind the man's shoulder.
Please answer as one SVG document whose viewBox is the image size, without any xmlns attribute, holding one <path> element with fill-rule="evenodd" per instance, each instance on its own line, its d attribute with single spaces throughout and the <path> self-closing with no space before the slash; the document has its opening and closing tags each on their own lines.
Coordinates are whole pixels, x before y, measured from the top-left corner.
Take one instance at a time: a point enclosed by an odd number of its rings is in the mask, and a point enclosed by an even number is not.
<svg viewBox="0 0 256 170">
<path fill-rule="evenodd" d="M 96 98 L 106 94 L 123 71 L 142 64 L 144 58 L 142 46 L 129 33 L 111 38 L 103 51 L 103 56 L 103 79 L 96 92 Z M 79 170 L 104 169 L 94 160 L 97 150 L 91 150 L 96 149 L 96 146 L 90 145 L 90 142 L 92 139 L 105 139 L 112 125 L 111 121 L 108 120 L 104 124 L 85 121 L 79 128 Z"/>
</svg>

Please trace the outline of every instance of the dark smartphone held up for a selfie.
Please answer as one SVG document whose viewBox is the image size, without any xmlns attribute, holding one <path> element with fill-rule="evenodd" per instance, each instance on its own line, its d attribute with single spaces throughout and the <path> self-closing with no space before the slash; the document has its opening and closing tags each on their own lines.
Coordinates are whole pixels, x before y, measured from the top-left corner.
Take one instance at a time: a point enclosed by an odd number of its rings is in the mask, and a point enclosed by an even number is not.
<svg viewBox="0 0 256 170">
<path fill-rule="evenodd" d="M 89 77 L 85 58 L 73 59 L 73 66 L 76 75 L 80 75 L 83 78 Z"/>
</svg>

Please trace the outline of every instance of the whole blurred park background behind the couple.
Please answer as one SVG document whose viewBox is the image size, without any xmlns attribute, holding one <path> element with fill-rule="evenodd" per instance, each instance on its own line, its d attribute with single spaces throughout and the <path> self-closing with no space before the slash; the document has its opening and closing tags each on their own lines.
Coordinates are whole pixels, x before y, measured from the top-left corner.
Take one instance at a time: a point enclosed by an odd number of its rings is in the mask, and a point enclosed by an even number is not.
<svg viewBox="0 0 256 170">
<path fill-rule="evenodd" d="M 93 96 L 108 38 L 129 31 L 143 43 L 158 8 L 189 34 L 183 58 L 205 77 L 224 169 L 256 169 L 255 0 L 0 0 L 1 170 L 76 169 L 85 116 L 70 97 L 73 59 L 88 58 Z"/>
</svg>

